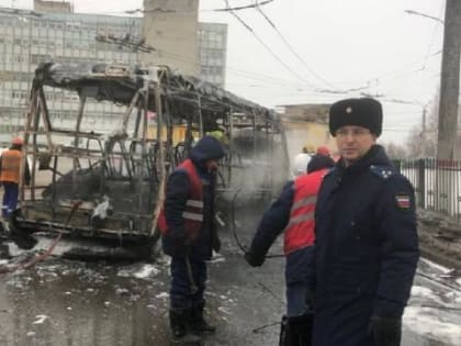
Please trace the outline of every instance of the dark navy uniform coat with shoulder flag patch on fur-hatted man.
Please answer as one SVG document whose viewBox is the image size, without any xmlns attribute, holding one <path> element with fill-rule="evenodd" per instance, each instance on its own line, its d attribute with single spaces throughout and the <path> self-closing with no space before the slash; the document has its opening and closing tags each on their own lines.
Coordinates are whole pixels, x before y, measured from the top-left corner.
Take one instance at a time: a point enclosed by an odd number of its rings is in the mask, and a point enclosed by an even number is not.
<svg viewBox="0 0 461 346">
<path fill-rule="evenodd" d="M 371 346 L 372 315 L 400 319 L 419 253 L 412 185 L 375 145 L 339 161 L 317 198 L 314 346 Z"/>
</svg>

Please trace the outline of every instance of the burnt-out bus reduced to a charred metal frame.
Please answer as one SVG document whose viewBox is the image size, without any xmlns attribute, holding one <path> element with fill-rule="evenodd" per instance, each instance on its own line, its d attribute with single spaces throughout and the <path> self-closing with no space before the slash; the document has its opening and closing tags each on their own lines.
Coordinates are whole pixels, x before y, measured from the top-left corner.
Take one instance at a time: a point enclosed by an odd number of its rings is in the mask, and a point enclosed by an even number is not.
<svg viewBox="0 0 461 346">
<path fill-rule="evenodd" d="M 20 182 L 10 223 L 22 248 L 59 235 L 85 245 L 67 257 L 151 256 L 168 174 L 205 134 L 227 150 L 218 171 L 222 227 L 235 208 L 267 207 L 289 176 L 274 112 L 166 66 L 42 64 L 25 114 L 32 181 Z"/>
</svg>

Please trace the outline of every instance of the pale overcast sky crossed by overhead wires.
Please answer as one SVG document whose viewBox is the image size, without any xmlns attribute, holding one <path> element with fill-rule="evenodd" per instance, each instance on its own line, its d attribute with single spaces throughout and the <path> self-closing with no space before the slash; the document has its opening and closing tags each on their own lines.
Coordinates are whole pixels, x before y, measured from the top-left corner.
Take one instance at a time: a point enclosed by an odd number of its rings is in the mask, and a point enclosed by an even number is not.
<svg viewBox="0 0 461 346">
<path fill-rule="evenodd" d="M 0 5 L 32 9 L 32 2 L 0 0 Z M 229 0 L 233 7 L 254 2 Z M 114 15 L 142 3 L 74 0 L 76 12 Z M 421 123 L 424 105 L 434 107 L 443 26 L 405 10 L 443 20 L 445 0 L 274 0 L 261 9 L 283 38 L 256 9 L 237 12 L 259 41 L 231 14 L 209 11 L 224 7 L 224 0 L 201 0 L 200 20 L 228 23 L 226 88 L 241 97 L 276 107 L 334 102 L 360 92 L 379 96 L 381 142 L 396 143 Z M 357 88 L 363 89 L 328 92 Z"/>
</svg>

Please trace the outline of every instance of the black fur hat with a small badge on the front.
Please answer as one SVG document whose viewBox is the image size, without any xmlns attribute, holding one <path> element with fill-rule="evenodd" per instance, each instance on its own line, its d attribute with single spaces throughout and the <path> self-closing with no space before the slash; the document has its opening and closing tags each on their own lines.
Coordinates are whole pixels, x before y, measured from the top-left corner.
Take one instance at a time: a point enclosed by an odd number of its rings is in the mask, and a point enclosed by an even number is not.
<svg viewBox="0 0 461 346">
<path fill-rule="evenodd" d="M 382 124 L 381 103 L 371 98 L 340 100 L 329 108 L 329 132 L 333 136 L 339 127 L 347 125 L 362 126 L 380 136 Z"/>
</svg>

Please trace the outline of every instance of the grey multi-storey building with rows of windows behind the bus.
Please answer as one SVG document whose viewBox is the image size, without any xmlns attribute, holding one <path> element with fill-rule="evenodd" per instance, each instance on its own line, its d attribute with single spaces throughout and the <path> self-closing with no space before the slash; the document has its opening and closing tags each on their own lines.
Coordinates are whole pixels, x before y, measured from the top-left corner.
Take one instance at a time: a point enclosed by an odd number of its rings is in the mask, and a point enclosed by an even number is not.
<svg viewBox="0 0 461 346">
<path fill-rule="evenodd" d="M 155 55 L 142 54 L 133 45 L 147 43 L 143 41 L 142 18 L 72 13 L 67 2 L 35 0 L 34 4 L 34 10 L 44 12 L 0 10 L 0 134 L 15 132 L 24 124 L 23 114 L 33 74 L 42 62 L 169 63 L 168 59 L 158 62 Z M 226 25 L 200 23 L 195 32 L 195 37 L 200 35 L 200 43 L 203 44 L 203 47 L 199 44 L 200 54 L 196 56 L 196 62 L 199 57 L 201 62 L 196 69 L 199 77 L 223 86 Z M 220 44 L 215 43 L 217 36 L 221 37 L 217 38 Z M 211 51 L 214 51 L 212 57 Z M 222 56 L 218 57 L 217 52 Z M 181 56 L 181 52 L 170 55 Z M 167 54 L 165 57 L 168 57 Z M 171 63 L 172 68 L 183 72 L 181 66 Z M 72 119 L 79 107 L 78 97 L 63 90 L 50 92 L 48 103 L 55 122 Z M 110 102 L 87 104 L 86 112 L 94 114 L 93 125 L 109 125 L 113 123 L 114 115 L 123 111 Z"/>
</svg>

